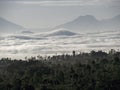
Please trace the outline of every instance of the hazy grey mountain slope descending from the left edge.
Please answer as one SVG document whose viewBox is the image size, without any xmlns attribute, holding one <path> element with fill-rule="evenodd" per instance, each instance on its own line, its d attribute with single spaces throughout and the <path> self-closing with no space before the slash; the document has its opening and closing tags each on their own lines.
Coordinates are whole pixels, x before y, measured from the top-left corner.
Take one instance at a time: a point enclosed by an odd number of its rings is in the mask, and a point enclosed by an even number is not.
<svg viewBox="0 0 120 90">
<path fill-rule="evenodd" d="M 0 32 L 16 32 L 24 29 L 22 26 L 14 24 L 0 17 Z"/>
</svg>

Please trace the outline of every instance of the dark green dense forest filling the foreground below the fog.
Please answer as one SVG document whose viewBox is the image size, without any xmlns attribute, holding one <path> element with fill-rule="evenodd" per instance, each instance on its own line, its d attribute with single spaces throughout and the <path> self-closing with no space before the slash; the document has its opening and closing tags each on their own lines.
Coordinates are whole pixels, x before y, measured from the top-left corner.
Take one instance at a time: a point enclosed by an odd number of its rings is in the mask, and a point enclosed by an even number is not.
<svg viewBox="0 0 120 90">
<path fill-rule="evenodd" d="M 2 58 L 0 90 L 120 90 L 120 52 Z"/>
</svg>

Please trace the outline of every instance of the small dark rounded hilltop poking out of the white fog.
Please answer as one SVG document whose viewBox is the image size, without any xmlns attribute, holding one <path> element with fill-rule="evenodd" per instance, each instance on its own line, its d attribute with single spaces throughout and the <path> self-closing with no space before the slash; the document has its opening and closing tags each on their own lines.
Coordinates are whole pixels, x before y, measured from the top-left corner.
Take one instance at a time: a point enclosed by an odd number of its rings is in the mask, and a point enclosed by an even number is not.
<svg viewBox="0 0 120 90">
<path fill-rule="evenodd" d="M 71 32 L 68 29 L 61 28 L 57 30 L 53 30 L 51 32 L 48 32 L 45 36 L 73 36 L 77 33 Z"/>
</svg>

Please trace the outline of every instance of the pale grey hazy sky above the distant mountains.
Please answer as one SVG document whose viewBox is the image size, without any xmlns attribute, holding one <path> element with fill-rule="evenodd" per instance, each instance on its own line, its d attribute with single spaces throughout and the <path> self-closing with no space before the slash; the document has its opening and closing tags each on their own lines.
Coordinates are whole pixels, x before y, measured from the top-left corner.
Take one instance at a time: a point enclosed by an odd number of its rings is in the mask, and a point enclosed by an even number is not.
<svg viewBox="0 0 120 90">
<path fill-rule="evenodd" d="M 0 17 L 26 28 L 54 27 L 87 14 L 116 16 L 120 0 L 0 0 Z"/>
</svg>

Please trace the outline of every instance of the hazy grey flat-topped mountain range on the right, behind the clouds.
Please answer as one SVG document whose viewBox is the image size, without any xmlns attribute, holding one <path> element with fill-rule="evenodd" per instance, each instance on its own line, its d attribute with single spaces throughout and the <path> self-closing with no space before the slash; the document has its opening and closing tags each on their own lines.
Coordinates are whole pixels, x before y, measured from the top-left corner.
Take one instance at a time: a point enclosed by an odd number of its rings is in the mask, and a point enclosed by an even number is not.
<svg viewBox="0 0 120 90">
<path fill-rule="evenodd" d="M 75 20 L 56 26 L 55 28 L 67 28 L 82 32 L 118 30 L 120 29 L 120 15 L 104 20 L 97 20 L 92 15 L 79 16 Z"/>
</svg>

